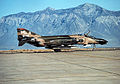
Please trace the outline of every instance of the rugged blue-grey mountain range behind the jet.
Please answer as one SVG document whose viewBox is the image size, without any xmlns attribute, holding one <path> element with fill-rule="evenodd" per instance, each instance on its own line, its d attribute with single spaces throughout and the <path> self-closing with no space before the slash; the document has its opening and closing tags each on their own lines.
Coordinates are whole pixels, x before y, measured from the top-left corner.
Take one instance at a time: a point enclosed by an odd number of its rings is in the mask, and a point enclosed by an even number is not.
<svg viewBox="0 0 120 84">
<path fill-rule="evenodd" d="M 26 28 L 42 36 L 84 34 L 90 30 L 91 35 L 107 39 L 107 46 L 120 46 L 120 11 L 109 11 L 89 3 L 69 9 L 48 7 L 33 13 L 20 12 L 2 17 L 0 49 L 18 48 L 17 28 Z"/>
</svg>

